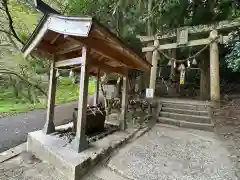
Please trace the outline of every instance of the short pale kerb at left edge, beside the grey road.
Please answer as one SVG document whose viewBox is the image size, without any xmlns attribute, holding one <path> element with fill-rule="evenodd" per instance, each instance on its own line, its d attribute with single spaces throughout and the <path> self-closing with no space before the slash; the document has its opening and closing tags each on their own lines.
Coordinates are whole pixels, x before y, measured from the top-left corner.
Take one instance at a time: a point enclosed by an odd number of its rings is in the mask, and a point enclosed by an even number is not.
<svg viewBox="0 0 240 180">
<path fill-rule="evenodd" d="M 14 148 L 11 148 L 7 151 L 0 153 L 0 163 L 3 163 L 5 161 L 21 154 L 23 151 L 26 150 L 26 144 L 27 143 L 22 143 Z"/>
</svg>

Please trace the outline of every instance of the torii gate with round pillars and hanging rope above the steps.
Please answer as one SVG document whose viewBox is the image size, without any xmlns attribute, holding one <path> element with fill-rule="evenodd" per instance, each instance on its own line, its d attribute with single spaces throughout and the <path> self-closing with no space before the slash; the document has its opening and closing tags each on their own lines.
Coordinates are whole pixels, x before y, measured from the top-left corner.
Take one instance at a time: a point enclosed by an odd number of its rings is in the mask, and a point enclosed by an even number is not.
<svg viewBox="0 0 240 180">
<path fill-rule="evenodd" d="M 240 26 L 239 19 L 231 21 L 221 21 L 210 25 L 198 25 L 192 27 L 181 27 L 169 30 L 166 33 L 156 34 L 155 36 L 138 36 L 141 42 L 147 46 L 142 48 L 142 52 L 152 53 L 147 56 L 147 60 L 152 62 L 149 87 L 155 90 L 159 54 L 166 50 L 175 50 L 182 47 L 201 46 L 207 47 L 209 59 L 201 60 L 201 85 L 200 94 L 202 100 L 219 101 L 220 100 L 220 77 L 219 77 L 219 44 L 224 44 L 229 40 L 228 34 Z M 206 49 L 207 49 L 206 48 Z M 201 54 L 201 50 L 199 51 Z M 199 55 L 198 54 L 198 55 Z M 197 54 L 196 54 L 197 55 Z M 175 57 L 174 57 L 175 56 Z M 169 60 L 173 62 L 184 62 L 186 60 L 176 60 L 176 54 L 173 53 Z M 171 68 L 171 70 L 174 68 Z M 209 97 L 210 95 L 210 97 Z"/>
</svg>

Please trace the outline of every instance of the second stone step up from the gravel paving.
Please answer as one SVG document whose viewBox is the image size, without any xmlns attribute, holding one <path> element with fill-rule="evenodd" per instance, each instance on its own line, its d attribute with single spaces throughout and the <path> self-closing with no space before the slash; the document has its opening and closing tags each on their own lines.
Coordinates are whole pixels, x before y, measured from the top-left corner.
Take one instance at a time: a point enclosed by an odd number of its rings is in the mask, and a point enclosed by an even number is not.
<svg viewBox="0 0 240 180">
<path fill-rule="evenodd" d="M 188 114 L 178 114 L 171 112 L 160 112 L 160 117 L 166 117 L 176 120 L 183 120 L 194 123 L 211 123 L 211 119 L 208 116 L 196 116 L 196 115 L 188 115 Z"/>
</svg>

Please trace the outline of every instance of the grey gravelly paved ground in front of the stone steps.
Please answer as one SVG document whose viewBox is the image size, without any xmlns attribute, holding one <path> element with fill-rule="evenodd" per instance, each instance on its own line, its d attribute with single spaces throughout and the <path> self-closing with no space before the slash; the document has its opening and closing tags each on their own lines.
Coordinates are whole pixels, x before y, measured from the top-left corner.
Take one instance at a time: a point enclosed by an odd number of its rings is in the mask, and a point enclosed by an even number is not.
<svg viewBox="0 0 240 180">
<path fill-rule="evenodd" d="M 84 180 L 237 180 L 229 156 L 214 133 L 157 125 Z"/>
</svg>

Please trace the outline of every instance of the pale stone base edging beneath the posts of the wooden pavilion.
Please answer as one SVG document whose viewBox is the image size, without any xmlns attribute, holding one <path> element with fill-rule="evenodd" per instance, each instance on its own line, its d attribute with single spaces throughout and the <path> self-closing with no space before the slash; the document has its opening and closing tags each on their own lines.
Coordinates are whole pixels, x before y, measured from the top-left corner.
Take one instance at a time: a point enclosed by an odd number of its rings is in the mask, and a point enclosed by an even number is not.
<svg viewBox="0 0 240 180">
<path fill-rule="evenodd" d="M 73 153 L 71 158 L 62 156 L 61 153 L 71 153 L 69 147 L 58 150 L 42 142 L 42 136 L 39 136 L 38 132 L 32 133 L 28 136 L 28 150 L 32 152 L 37 158 L 45 160 L 48 163 L 55 166 L 66 179 L 79 180 L 85 173 L 92 167 L 98 164 L 100 161 L 108 157 L 113 151 L 117 150 L 124 144 L 126 144 L 136 134 L 141 132 L 142 128 L 128 128 L 126 131 L 117 131 L 107 138 L 100 139 L 91 143 L 89 148 L 82 153 Z M 54 140 L 54 139 L 52 139 Z M 41 149 L 41 152 L 39 151 Z"/>
</svg>

